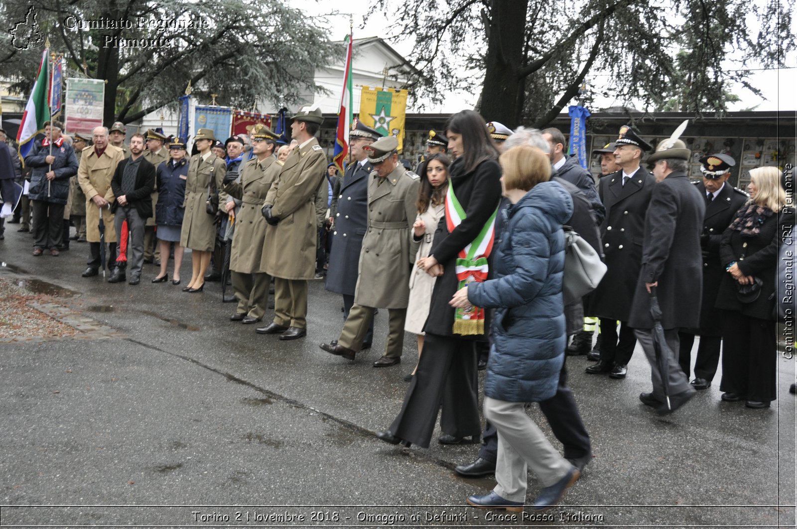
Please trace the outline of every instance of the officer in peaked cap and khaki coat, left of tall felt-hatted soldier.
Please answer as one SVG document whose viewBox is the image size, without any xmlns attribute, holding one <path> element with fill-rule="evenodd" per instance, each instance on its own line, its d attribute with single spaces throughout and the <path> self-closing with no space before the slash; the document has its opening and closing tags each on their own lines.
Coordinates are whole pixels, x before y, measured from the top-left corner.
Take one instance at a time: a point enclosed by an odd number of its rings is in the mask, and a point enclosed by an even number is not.
<svg viewBox="0 0 797 529">
<path fill-rule="evenodd" d="M 257 123 L 251 134 L 255 158 L 244 164 L 240 182 L 236 182 L 238 171 L 228 171 L 224 178 L 226 193 L 240 201 L 230 251 L 230 273 L 238 308 L 230 320 L 241 323 L 261 321 L 268 306 L 271 276 L 261 271 L 266 228 L 261 207 L 281 168 L 274 157 L 279 136 L 262 123 Z"/>
</svg>

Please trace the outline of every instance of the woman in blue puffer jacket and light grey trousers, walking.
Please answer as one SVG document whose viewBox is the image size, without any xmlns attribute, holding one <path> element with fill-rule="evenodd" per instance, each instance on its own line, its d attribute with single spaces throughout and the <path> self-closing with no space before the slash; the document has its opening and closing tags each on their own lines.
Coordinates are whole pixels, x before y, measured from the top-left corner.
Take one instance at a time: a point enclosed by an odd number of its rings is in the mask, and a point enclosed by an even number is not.
<svg viewBox="0 0 797 529">
<path fill-rule="evenodd" d="M 454 307 L 496 308 L 493 351 L 485 380 L 485 417 L 498 431 L 493 492 L 470 496 L 475 507 L 522 511 L 528 467 L 544 489 L 536 511 L 556 504 L 579 471 L 524 411 L 525 402 L 552 398 L 559 382 L 565 335 L 562 299 L 564 233 L 573 214 L 570 194 L 551 178 L 548 156 L 536 147 L 501 155 L 504 195 L 512 203 L 498 241 L 495 278 L 461 288 Z"/>
</svg>

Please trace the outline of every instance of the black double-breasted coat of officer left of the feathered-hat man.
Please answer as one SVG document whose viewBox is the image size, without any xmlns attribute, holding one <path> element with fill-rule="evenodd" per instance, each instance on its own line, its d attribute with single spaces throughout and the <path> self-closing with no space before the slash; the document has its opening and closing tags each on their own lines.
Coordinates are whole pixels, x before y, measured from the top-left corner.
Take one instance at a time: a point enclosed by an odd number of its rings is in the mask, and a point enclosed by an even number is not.
<svg viewBox="0 0 797 529">
<path fill-rule="evenodd" d="M 655 185 L 656 179 L 644 167 L 625 186 L 622 170 L 599 180 L 598 192 L 606 206 L 600 236 L 607 271 L 590 293 L 588 315 L 628 321 L 642 267 L 645 215 Z"/>
</svg>

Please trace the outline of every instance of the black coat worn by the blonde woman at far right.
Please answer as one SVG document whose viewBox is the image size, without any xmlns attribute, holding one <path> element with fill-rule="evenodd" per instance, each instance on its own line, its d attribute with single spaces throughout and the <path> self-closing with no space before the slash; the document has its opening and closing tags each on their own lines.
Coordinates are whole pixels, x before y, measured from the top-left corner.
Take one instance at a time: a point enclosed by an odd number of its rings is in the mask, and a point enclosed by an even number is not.
<svg viewBox="0 0 797 529">
<path fill-rule="evenodd" d="M 736 218 L 736 215 L 734 215 Z M 775 319 L 775 270 L 778 263 L 778 246 L 783 234 L 789 233 L 795 223 L 794 210 L 783 209 L 764 219 L 757 235 L 746 236 L 735 229 L 726 229 L 720 243 L 720 262 L 724 276 L 717 293 L 717 308 L 741 312 L 758 319 Z M 736 299 L 736 280 L 724 269 L 736 261 L 745 276 L 759 277 L 764 284 L 758 299 L 743 304 Z M 774 351 L 772 352 L 774 355 Z"/>
</svg>

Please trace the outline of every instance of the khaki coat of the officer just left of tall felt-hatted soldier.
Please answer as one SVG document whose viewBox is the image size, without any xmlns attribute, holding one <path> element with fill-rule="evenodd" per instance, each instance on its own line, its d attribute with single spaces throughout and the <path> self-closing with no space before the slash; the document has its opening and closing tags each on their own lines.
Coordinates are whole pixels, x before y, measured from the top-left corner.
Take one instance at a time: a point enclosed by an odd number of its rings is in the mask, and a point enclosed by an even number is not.
<svg viewBox="0 0 797 529">
<path fill-rule="evenodd" d="M 280 174 L 277 159 L 269 156 L 261 163 L 249 160 L 241 169 L 241 182 L 224 186 L 230 197 L 238 198 L 241 206 L 235 217 L 233 247 L 230 249 L 230 270 L 241 273 L 261 272 L 261 258 L 267 226 L 261 210 L 271 184 Z"/>
</svg>

